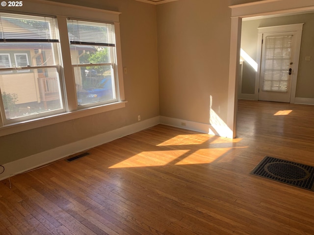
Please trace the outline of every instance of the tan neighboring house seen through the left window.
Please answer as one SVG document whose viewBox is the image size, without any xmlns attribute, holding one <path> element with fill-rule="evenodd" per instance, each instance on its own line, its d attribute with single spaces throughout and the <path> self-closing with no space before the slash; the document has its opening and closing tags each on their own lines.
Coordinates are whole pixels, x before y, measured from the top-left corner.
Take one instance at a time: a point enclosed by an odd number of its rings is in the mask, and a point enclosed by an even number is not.
<svg viewBox="0 0 314 235">
<path fill-rule="evenodd" d="M 60 106 L 60 92 L 55 68 L 45 68 L 47 65 L 55 64 L 53 43 L 36 42 L 24 43 L 27 37 L 34 39 L 40 35 L 34 34 L 31 22 L 23 22 L 14 18 L 2 18 L 2 24 L 11 28 L 10 36 L 20 39 L 19 43 L 6 42 L 0 49 L 0 68 L 11 68 L 1 71 L 0 88 L 1 93 L 13 98 L 21 112 L 29 112 L 32 106 L 40 106 L 47 109 L 47 102 L 57 101 Z M 18 28 L 18 30 L 16 30 Z M 39 67 L 38 69 L 27 69 L 26 67 Z M 40 67 L 43 67 L 42 69 Z M 18 81 L 17 81 L 18 80 Z M 18 85 L 17 85 L 18 84 Z M 3 101 L 5 103 L 5 100 Z M 9 107 L 6 107 L 9 108 Z M 12 113 L 11 115 L 14 115 Z"/>
</svg>

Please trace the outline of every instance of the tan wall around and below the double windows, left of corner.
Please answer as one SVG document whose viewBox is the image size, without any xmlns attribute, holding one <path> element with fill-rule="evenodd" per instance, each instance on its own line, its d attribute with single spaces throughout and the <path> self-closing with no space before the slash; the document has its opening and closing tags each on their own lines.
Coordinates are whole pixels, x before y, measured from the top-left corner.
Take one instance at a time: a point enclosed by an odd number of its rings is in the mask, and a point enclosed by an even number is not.
<svg viewBox="0 0 314 235">
<path fill-rule="evenodd" d="M 126 108 L 0 137 L 0 164 L 159 115 L 156 6 L 134 0 L 60 0 L 119 11 Z M 57 14 L 57 12 L 56 12 Z M 83 16 L 82 16 L 83 17 Z"/>
</svg>

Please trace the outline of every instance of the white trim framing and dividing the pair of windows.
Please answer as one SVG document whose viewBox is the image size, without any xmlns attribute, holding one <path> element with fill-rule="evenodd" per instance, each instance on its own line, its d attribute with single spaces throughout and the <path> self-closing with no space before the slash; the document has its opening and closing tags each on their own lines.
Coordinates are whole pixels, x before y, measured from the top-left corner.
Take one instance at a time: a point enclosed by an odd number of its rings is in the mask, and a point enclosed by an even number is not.
<svg viewBox="0 0 314 235">
<path fill-rule="evenodd" d="M 52 125 L 59 122 L 72 120 L 76 118 L 82 118 L 90 115 L 95 115 L 115 109 L 124 108 L 127 101 L 124 96 L 124 84 L 123 84 L 123 66 L 122 66 L 122 53 L 121 53 L 121 42 L 120 42 L 120 23 L 119 15 L 120 12 L 107 11 L 102 9 L 95 9 L 90 7 L 82 7 L 65 3 L 57 3 L 45 0 L 28 0 L 24 5 L 23 9 L 14 9 L 15 13 L 20 12 L 39 14 L 39 15 L 54 15 L 57 17 L 58 28 L 60 33 L 60 47 L 62 53 L 62 61 L 64 68 L 65 87 L 68 95 L 66 112 L 51 115 L 43 118 L 36 118 L 16 122 L 12 124 L 2 125 L 3 121 L 0 117 L 0 136 L 5 136 L 21 131 L 26 131 L 46 125 Z M 83 17 L 82 17 L 83 16 Z M 64 51 L 70 51 L 70 45 L 67 35 L 67 24 L 66 19 L 68 17 L 78 18 L 87 21 L 99 21 L 99 22 L 112 22 L 115 26 L 115 38 L 116 38 L 116 56 L 117 56 L 117 75 L 118 75 L 118 101 L 115 103 L 78 109 L 77 98 L 76 98 L 76 87 L 74 71 L 71 64 L 70 53 L 64 53 Z M 63 29 L 62 29 L 63 28 Z M 65 33 L 66 32 L 66 33 Z M 72 79 L 71 79 L 72 78 Z"/>
</svg>

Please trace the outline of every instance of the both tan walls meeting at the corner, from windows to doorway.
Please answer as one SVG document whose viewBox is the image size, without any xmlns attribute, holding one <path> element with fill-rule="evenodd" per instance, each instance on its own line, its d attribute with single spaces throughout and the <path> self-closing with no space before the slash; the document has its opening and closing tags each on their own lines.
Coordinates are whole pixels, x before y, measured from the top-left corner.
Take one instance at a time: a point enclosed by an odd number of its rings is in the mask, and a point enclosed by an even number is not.
<svg viewBox="0 0 314 235">
<path fill-rule="evenodd" d="M 135 0 L 55 1 L 122 13 L 128 103 L 124 109 L 0 137 L 0 164 L 136 123 L 137 115 L 209 123 L 210 97 L 212 110 L 226 121 L 228 5 L 245 0 L 179 0 L 157 6 Z"/>
</svg>

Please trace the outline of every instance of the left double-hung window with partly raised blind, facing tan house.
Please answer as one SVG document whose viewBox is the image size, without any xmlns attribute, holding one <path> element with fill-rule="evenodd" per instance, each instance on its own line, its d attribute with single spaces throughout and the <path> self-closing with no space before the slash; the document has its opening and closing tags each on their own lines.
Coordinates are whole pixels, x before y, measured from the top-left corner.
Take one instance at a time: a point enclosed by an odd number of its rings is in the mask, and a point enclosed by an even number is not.
<svg viewBox="0 0 314 235">
<path fill-rule="evenodd" d="M 56 19 L 0 13 L 0 110 L 4 124 L 64 111 Z"/>
</svg>

